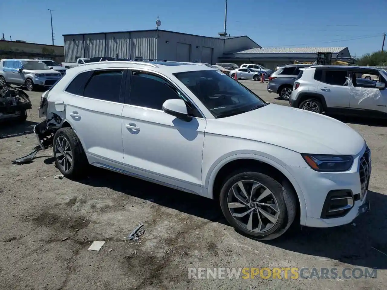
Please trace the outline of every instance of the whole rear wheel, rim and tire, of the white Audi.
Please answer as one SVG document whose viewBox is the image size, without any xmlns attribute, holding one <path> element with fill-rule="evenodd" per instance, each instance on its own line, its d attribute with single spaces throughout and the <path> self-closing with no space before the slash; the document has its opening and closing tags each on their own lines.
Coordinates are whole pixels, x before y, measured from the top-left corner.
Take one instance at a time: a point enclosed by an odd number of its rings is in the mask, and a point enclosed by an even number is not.
<svg viewBox="0 0 387 290">
<path fill-rule="evenodd" d="M 88 165 L 82 144 L 74 130 L 69 127 L 59 129 L 53 140 L 55 165 L 67 178 L 84 176 Z"/>
</svg>

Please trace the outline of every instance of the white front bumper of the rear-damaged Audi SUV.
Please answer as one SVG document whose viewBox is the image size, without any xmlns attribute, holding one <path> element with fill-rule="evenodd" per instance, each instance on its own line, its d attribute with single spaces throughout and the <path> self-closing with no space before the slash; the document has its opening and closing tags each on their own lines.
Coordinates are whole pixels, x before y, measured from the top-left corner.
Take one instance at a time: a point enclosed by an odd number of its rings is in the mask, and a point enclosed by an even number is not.
<svg viewBox="0 0 387 290">
<path fill-rule="evenodd" d="M 368 150 L 368 149 L 367 149 Z M 346 172 L 317 172 L 307 167 L 286 166 L 286 169 L 299 182 L 306 205 L 306 218 L 301 225 L 308 227 L 336 227 L 351 223 L 354 218 L 363 213 L 368 183 L 371 174 L 371 159 L 366 155 L 366 148 L 361 154 L 354 156 L 352 168 Z M 366 173 L 364 171 L 365 166 Z M 348 192 L 352 196 L 351 207 L 337 212 L 337 215 L 327 216 L 327 200 L 332 191 Z M 340 214 L 341 213 L 341 214 Z M 304 215 L 305 216 L 305 215 Z"/>
</svg>

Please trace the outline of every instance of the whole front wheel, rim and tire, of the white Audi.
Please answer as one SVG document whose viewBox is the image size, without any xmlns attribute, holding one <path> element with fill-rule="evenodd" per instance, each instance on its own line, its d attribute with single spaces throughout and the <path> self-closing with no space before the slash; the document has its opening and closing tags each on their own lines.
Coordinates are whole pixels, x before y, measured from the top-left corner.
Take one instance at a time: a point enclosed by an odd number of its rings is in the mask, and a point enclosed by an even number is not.
<svg viewBox="0 0 387 290">
<path fill-rule="evenodd" d="M 296 216 L 293 189 L 251 169 L 226 177 L 219 199 L 230 225 L 256 239 L 276 239 L 289 229 Z"/>
</svg>

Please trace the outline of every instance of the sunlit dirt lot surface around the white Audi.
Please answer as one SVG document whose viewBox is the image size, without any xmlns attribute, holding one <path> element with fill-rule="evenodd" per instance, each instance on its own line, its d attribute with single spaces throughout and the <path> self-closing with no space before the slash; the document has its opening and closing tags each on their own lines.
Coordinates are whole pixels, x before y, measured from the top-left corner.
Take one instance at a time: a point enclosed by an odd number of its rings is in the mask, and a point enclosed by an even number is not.
<svg viewBox="0 0 387 290">
<path fill-rule="evenodd" d="M 269 94 L 265 83 L 241 82 L 265 101 L 287 105 Z M 200 196 L 99 169 L 81 182 L 55 179 L 60 172 L 52 150 L 39 152 L 30 164 L 12 164 L 37 144 L 32 130 L 39 122 L 41 92 L 28 94 L 33 109 L 27 122 L 0 125 L 1 289 L 385 289 L 385 122 L 341 119 L 372 150 L 371 212 L 353 225 L 304 227 L 259 242 L 235 232 L 216 202 Z M 126 241 L 140 222 L 146 229 L 140 242 Z M 95 240 L 106 243 L 98 252 L 88 251 Z M 377 268 L 377 277 L 188 279 L 189 267 L 336 267 L 339 276 L 346 267 L 369 267 Z"/>
</svg>

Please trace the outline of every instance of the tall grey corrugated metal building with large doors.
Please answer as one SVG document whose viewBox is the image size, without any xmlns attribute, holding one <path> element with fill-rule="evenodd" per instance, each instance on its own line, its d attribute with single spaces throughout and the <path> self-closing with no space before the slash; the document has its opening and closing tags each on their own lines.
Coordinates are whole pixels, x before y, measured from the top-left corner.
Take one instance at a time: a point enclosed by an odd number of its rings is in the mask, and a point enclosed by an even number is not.
<svg viewBox="0 0 387 290">
<path fill-rule="evenodd" d="M 208 37 L 166 31 L 139 30 L 64 34 L 65 61 L 115 57 L 217 63 L 224 53 L 261 48 L 248 36 Z"/>
</svg>

